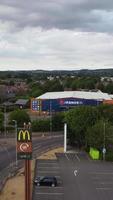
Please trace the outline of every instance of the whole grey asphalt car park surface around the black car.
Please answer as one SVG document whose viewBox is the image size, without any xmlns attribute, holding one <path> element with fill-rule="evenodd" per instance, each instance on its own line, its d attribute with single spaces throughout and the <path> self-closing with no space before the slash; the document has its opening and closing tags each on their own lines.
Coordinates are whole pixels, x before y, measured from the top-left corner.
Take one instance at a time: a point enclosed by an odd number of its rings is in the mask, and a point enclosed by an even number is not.
<svg viewBox="0 0 113 200">
<path fill-rule="evenodd" d="M 92 161 L 84 152 L 38 160 L 36 176 L 54 175 L 58 187 L 34 186 L 33 200 L 112 200 L 113 163 Z"/>
</svg>

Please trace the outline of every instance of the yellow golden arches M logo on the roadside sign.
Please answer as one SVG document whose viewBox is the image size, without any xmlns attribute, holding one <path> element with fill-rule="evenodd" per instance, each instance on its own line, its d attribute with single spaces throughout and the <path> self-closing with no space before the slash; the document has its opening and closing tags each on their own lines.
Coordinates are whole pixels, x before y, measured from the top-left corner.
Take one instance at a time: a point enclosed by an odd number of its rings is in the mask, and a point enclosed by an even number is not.
<svg viewBox="0 0 113 200">
<path fill-rule="evenodd" d="M 30 132 L 28 130 L 20 130 L 18 133 L 18 141 L 30 141 L 31 140 L 31 136 L 30 136 Z"/>
</svg>

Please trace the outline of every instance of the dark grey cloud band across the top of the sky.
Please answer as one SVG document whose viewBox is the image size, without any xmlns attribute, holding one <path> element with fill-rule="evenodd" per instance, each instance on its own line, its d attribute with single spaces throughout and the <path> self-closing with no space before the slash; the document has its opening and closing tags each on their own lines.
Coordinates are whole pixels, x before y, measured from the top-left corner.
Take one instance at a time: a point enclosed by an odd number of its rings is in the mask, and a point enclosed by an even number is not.
<svg viewBox="0 0 113 200">
<path fill-rule="evenodd" d="M 19 9 L 17 14 L 10 16 L 0 14 L 1 20 L 15 22 L 15 28 L 113 32 L 112 0 L 0 0 L 0 4 Z"/>
</svg>

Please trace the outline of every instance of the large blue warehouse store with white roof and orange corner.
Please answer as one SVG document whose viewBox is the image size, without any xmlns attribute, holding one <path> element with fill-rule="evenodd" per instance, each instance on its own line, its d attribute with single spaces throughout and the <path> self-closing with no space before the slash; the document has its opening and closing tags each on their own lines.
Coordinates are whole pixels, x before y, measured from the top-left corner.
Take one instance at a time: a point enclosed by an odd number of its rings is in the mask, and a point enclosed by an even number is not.
<svg viewBox="0 0 113 200">
<path fill-rule="evenodd" d="M 41 113 L 66 111 L 82 105 L 97 106 L 102 103 L 113 103 L 112 97 L 101 91 L 64 91 L 47 92 L 31 101 L 32 111 Z"/>
</svg>

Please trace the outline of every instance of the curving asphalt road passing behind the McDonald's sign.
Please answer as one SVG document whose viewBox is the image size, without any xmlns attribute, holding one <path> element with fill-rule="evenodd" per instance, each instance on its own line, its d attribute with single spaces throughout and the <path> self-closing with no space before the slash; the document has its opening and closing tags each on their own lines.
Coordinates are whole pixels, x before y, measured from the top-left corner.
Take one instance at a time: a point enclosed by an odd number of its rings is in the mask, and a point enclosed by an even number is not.
<svg viewBox="0 0 113 200">
<path fill-rule="evenodd" d="M 63 136 L 35 138 L 33 139 L 33 156 L 38 156 L 50 148 L 61 145 L 63 145 Z M 15 146 L 6 148 L 0 144 L 0 172 L 10 164 L 15 163 L 15 160 Z"/>
</svg>

